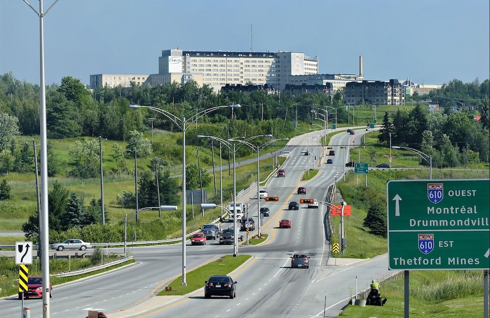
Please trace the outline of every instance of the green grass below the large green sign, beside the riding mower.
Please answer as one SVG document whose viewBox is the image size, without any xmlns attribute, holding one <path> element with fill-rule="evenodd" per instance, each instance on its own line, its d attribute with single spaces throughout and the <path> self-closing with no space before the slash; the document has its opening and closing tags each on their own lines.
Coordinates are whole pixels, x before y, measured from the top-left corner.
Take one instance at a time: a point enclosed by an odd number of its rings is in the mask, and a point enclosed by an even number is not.
<svg viewBox="0 0 490 318">
<path fill-rule="evenodd" d="M 339 317 L 403 317 L 404 278 L 381 284 L 383 307 L 348 306 Z M 464 270 L 410 272 L 410 317 L 483 317 L 483 274 Z"/>
</svg>

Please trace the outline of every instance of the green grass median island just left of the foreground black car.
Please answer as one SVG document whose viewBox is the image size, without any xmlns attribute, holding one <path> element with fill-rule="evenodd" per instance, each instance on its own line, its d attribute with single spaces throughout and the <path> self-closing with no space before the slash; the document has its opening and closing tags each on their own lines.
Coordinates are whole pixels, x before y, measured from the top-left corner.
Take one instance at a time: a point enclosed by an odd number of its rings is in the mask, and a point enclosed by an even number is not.
<svg viewBox="0 0 490 318">
<path fill-rule="evenodd" d="M 213 275 L 228 275 L 245 263 L 250 257 L 250 255 L 239 255 L 237 257 L 225 255 L 214 262 L 189 271 L 187 273 L 187 286 L 181 285 L 182 276 L 179 276 L 169 284 L 169 287 L 172 287 L 172 291 L 167 292 L 162 290 L 157 296 L 185 295 L 191 293 L 203 287 L 204 281 L 208 280 L 209 277 Z"/>
</svg>

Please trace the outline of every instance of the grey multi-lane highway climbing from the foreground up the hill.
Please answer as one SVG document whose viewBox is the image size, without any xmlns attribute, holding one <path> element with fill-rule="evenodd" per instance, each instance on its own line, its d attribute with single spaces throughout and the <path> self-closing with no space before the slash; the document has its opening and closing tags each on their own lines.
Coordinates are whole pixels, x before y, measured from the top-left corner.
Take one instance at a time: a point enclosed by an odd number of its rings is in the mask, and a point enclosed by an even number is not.
<svg viewBox="0 0 490 318">
<path fill-rule="evenodd" d="M 165 300 L 166 296 L 155 297 L 170 281 L 181 274 L 181 245 L 145 246 L 132 249 L 137 263 L 98 276 L 87 277 L 62 286 L 54 286 L 51 298 L 51 317 L 85 317 L 88 310 L 103 311 L 109 318 L 122 317 L 323 317 L 325 294 L 326 316 L 336 316 L 346 304 L 355 286 L 355 276 L 359 278 L 359 289 L 368 286 L 372 278 L 388 273 L 386 255 L 370 260 L 352 260 L 333 264 L 329 258 L 329 242 L 323 226 L 325 207 L 308 209 L 300 204 L 299 211 L 289 211 L 290 201 L 300 197 L 324 200 L 328 187 L 335 178 L 343 175 L 344 163 L 348 161 L 348 149 L 341 144 L 359 144 L 364 129 L 356 135 L 340 133 L 332 138 L 335 156 L 327 156 L 318 167 L 319 174 L 310 181 L 300 181 L 307 169 L 311 156 L 301 155 L 306 150 L 308 136 L 295 137 L 285 150 L 291 151 L 290 158 L 283 165 L 286 177 L 273 176 L 267 183 L 269 196 L 279 196 L 279 202 L 261 202 L 261 207 L 270 208 L 270 217 L 264 218 L 263 232 L 270 238 L 260 246 L 240 246 L 239 254 L 253 255 L 245 266 L 232 277 L 238 281 L 237 297 L 213 297 L 204 299 L 202 289 L 190 297 Z M 359 140 L 358 140 L 359 139 Z M 314 154 L 319 156 L 320 147 Z M 345 157 L 343 156 L 345 151 Z M 333 164 L 325 164 L 326 158 Z M 316 165 L 318 164 L 316 161 Z M 310 163 L 310 166 L 312 163 Z M 298 186 L 307 188 L 307 195 L 297 195 Z M 249 217 L 257 219 L 256 196 L 253 191 L 249 201 Z M 255 209 L 254 209 L 255 207 Z M 279 220 L 292 220 L 291 229 L 277 228 Z M 224 223 L 229 226 L 231 223 Z M 256 220 L 257 224 L 257 220 Z M 209 244 L 211 243 L 211 244 Z M 111 248 L 111 252 L 122 252 L 122 248 Z M 309 269 L 290 268 L 290 257 L 294 252 L 310 255 Z M 204 246 L 188 246 L 188 271 L 218 257 L 233 253 L 233 246 L 219 245 L 218 241 L 208 241 Z M 208 277 L 203 277 L 202 283 Z M 161 299 L 161 301 L 160 301 Z M 148 301 L 149 300 L 149 301 Z M 151 306 L 145 304 L 151 303 Z M 161 304 L 159 304 L 161 303 Z M 156 305 L 155 305 L 156 304 Z M 31 308 L 31 317 L 42 317 L 42 300 L 27 299 L 25 306 Z M 21 302 L 14 298 L 0 300 L 3 317 L 20 315 Z M 138 315 L 130 315 L 128 309 L 142 308 Z"/>
</svg>

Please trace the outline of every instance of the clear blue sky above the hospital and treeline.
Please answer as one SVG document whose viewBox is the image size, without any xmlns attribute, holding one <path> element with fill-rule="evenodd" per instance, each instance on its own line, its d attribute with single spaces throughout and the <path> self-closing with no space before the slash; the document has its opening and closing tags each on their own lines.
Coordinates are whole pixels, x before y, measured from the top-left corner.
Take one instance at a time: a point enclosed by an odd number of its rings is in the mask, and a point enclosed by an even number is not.
<svg viewBox="0 0 490 318">
<path fill-rule="evenodd" d="M 28 0 L 36 8 L 37 0 Z M 45 0 L 45 8 L 54 0 Z M 158 73 L 162 49 L 299 51 L 320 73 L 442 84 L 489 78 L 488 0 L 60 0 L 45 18 L 46 83 Z M 0 0 L 0 74 L 39 83 L 39 18 Z"/>
</svg>

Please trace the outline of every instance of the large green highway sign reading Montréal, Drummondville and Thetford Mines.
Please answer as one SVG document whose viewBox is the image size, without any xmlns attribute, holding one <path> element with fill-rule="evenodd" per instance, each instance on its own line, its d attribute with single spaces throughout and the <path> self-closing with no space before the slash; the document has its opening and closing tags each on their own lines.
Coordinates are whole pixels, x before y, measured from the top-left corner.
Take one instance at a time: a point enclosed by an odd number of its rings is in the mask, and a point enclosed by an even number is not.
<svg viewBox="0 0 490 318">
<path fill-rule="evenodd" d="M 388 268 L 489 269 L 490 180 L 392 180 Z"/>
</svg>

